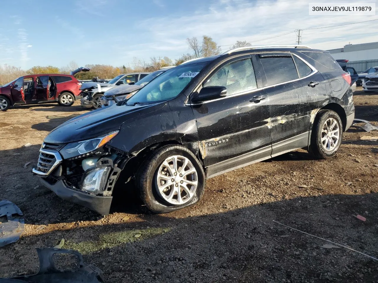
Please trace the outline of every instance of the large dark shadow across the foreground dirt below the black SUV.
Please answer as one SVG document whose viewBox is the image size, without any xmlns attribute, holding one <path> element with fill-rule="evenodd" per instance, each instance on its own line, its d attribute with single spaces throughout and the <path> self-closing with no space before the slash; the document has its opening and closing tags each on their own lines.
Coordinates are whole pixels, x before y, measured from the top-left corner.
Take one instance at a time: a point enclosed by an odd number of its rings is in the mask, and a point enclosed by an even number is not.
<svg viewBox="0 0 378 283">
<path fill-rule="evenodd" d="M 194 216 L 189 207 L 127 220 L 114 214 L 57 229 L 29 225 L 20 240 L 2 248 L 0 274 L 33 274 L 38 263 L 27 261 L 34 248 L 53 247 L 64 238 L 63 248 L 84 254 L 110 283 L 120 276 L 125 282 L 374 282 L 376 261 L 338 245 L 375 255 L 377 197 L 376 192 L 295 197 L 205 214 L 198 212 L 200 201 Z M 367 220 L 353 216 L 358 214 Z"/>
</svg>

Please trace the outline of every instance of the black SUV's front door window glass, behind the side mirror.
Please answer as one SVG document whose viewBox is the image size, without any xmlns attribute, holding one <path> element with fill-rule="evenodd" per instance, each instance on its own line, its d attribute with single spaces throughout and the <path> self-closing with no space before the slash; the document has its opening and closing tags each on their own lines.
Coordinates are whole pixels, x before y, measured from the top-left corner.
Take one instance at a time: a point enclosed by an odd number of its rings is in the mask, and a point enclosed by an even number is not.
<svg viewBox="0 0 378 283">
<path fill-rule="evenodd" d="M 203 86 L 224 86 L 227 89 L 227 95 L 256 89 L 257 83 L 251 59 L 226 64 Z"/>
</svg>

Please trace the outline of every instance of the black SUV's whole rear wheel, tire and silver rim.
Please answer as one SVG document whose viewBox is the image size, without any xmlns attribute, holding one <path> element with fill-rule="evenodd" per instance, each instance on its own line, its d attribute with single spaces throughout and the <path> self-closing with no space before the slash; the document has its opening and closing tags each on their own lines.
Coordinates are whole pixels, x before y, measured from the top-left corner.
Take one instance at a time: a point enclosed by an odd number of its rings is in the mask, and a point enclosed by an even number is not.
<svg viewBox="0 0 378 283">
<path fill-rule="evenodd" d="M 340 148 L 342 132 L 342 122 L 335 111 L 319 111 L 312 128 L 310 152 L 317 159 L 332 157 Z"/>
</svg>

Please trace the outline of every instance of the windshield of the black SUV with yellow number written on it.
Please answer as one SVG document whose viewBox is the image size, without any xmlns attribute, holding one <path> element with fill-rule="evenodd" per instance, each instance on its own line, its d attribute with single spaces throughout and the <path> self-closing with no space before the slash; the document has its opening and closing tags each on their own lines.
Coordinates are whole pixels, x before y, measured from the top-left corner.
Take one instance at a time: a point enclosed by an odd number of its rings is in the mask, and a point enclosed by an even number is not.
<svg viewBox="0 0 378 283">
<path fill-rule="evenodd" d="M 165 101 L 176 97 L 208 63 L 194 63 L 167 70 L 127 100 L 127 105 Z"/>
</svg>

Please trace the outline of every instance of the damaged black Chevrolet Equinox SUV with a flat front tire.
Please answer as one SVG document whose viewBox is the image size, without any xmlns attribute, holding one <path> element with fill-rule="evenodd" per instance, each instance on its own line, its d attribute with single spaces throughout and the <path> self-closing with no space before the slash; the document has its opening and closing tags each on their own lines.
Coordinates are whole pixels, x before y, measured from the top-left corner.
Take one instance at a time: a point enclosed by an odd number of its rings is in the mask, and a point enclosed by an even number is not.
<svg viewBox="0 0 378 283">
<path fill-rule="evenodd" d="M 349 84 L 329 52 L 307 46 L 189 60 L 51 131 L 33 172 L 100 214 L 128 181 L 151 211 L 174 211 L 200 200 L 206 178 L 299 148 L 335 155 L 354 118 Z"/>
</svg>

